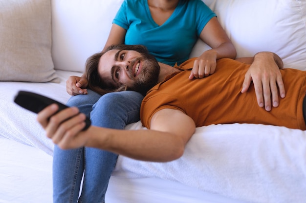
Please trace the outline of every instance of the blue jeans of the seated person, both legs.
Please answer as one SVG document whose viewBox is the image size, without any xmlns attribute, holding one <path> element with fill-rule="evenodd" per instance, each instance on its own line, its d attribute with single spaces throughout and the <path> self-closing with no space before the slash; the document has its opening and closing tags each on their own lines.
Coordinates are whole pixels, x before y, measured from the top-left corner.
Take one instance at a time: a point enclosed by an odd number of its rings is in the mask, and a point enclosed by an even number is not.
<svg viewBox="0 0 306 203">
<path fill-rule="evenodd" d="M 127 124 L 139 121 L 142 99 L 138 92 L 113 92 L 101 96 L 88 90 L 87 95 L 72 96 L 67 106 L 78 107 L 90 117 L 93 126 L 124 129 Z M 104 203 L 117 158 L 117 154 L 97 148 L 62 150 L 55 146 L 53 202 Z"/>
</svg>

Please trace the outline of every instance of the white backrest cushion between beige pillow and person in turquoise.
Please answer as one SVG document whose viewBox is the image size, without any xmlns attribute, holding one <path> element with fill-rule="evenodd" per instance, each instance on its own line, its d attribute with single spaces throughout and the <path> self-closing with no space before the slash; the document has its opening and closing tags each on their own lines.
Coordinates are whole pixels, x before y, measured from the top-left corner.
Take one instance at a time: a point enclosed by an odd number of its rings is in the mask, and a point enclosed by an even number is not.
<svg viewBox="0 0 306 203">
<path fill-rule="evenodd" d="M 123 0 L 52 0 L 55 69 L 84 72 L 86 59 L 102 51 Z"/>
</svg>

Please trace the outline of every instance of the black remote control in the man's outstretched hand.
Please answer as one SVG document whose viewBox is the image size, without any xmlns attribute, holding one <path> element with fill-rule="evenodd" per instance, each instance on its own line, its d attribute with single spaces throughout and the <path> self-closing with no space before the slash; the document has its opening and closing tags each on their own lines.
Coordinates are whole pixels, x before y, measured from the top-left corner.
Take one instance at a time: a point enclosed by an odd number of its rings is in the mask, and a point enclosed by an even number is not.
<svg viewBox="0 0 306 203">
<path fill-rule="evenodd" d="M 51 104 L 57 104 L 59 106 L 59 111 L 68 108 L 66 105 L 55 101 L 51 98 L 43 96 L 41 94 L 37 94 L 34 92 L 27 92 L 27 91 L 19 91 L 18 94 L 15 96 L 14 102 L 21 107 L 32 111 L 34 113 L 38 113 L 42 111 L 44 108 Z M 59 112 L 57 111 L 57 112 Z M 90 119 L 86 118 L 86 126 L 83 130 L 86 130 L 91 125 Z"/>
</svg>

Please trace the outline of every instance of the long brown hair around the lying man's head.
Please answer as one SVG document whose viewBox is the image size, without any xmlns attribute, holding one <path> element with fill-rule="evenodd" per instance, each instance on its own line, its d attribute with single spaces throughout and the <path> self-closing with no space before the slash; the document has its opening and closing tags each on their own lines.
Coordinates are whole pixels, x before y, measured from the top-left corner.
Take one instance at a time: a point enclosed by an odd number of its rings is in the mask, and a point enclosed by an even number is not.
<svg viewBox="0 0 306 203">
<path fill-rule="evenodd" d="M 101 95 L 109 92 L 121 92 L 126 91 L 126 85 L 120 85 L 114 87 L 103 81 L 103 79 L 98 74 L 98 65 L 102 55 L 110 50 L 134 50 L 141 54 L 149 54 L 148 49 L 143 45 L 126 45 L 126 44 L 116 44 L 110 45 L 104 52 L 99 52 L 94 55 L 91 55 L 86 60 L 86 77 L 88 80 L 88 88 L 94 92 L 97 92 Z"/>
</svg>

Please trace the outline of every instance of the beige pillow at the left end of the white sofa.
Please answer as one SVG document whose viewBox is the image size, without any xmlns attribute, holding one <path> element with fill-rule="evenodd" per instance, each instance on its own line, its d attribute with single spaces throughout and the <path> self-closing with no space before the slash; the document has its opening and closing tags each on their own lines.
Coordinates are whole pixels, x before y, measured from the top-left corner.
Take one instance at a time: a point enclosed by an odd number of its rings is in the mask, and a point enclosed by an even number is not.
<svg viewBox="0 0 306 203">
<path fill-rule="evenodd" d="M 50 0 L 0 0 L 0 80 L 59 82 L 51 57 Z"/>
</svg>

